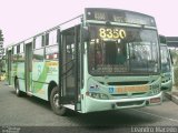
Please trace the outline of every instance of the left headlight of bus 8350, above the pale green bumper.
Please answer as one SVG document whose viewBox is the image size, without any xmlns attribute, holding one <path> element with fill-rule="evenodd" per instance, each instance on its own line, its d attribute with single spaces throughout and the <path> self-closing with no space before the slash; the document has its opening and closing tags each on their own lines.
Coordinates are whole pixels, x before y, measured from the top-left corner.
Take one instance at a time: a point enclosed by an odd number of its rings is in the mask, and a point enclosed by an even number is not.
<svg viewBox="0 0 178 133">
<path fill-rule="evenodd" d="M 103 93 L 96 93 L 96 92 L 87 92 L 87 95 L 93 98 L 93 99 L 99 99 L 99 100 L 109 100 L 107 94 Z"/>
</svg>

